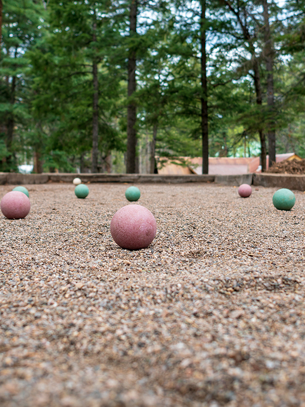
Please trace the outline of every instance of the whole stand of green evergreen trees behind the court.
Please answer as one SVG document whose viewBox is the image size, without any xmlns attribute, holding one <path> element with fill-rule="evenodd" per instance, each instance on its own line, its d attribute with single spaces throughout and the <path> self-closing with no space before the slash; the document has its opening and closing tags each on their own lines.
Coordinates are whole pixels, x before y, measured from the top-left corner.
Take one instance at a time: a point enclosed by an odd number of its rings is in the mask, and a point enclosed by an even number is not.
<svg viewBox="0 0 305 407">
<path fill-rule="evenodd" d="M 0 171 L 305 157 L 305 0 L 0 0 Z"/>
</svg>

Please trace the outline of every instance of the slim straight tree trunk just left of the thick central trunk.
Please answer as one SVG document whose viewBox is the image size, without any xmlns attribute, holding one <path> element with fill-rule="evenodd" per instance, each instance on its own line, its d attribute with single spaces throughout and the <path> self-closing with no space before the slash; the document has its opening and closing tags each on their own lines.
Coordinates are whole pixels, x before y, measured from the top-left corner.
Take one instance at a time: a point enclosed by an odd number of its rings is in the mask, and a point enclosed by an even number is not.
<svg viewBox="0 0 305 407">
<path fill-rule="evenodd" d="M 97 22 L 93 23 L 93 42 L 97 41 Z M 98 64 L 96 58 L 93 59 L 93 117 L 92 117 L 92 164 L 91 171 L 98 172 L 99 157 L 99 79 Z"/>
</svg>

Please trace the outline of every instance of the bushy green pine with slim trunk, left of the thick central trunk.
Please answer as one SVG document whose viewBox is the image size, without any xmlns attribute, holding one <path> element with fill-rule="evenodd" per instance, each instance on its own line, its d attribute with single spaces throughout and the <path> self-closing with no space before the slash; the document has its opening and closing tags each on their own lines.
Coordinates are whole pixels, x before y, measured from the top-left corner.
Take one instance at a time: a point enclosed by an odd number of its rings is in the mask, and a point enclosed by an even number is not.
<svg viewBox="0 0 305 407">
<path fill-rule="evenodd" d="M 73 1 L 51 1 L 48 11 L 52 33 L 32 55 L 34 71 L 39 72 L 35 112 L 42 113 L 45 120 L 52 118 L 53 123 L 55 115 L 58 123 L 51 130 L 53 142 L 46 153 L 54 149 L 67 154 L 73 151 L 83 162 L 91 150 L 92 172 L 99 170 L 100 151 L 106 149 L 108 155 L 109 149 L 118 145 L 112 118 L 120 77 L 111 57 L 120 36 L 106 6 L 103 2 L 75 5 Z"/>
</svg>

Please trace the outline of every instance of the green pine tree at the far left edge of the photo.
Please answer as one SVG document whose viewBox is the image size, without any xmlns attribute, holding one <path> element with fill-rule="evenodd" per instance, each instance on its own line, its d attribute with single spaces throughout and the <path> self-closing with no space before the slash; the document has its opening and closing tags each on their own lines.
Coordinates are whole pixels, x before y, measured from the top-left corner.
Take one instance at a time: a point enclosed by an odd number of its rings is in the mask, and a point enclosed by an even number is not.
<svg viewBox="0 0 305 407">
<path fill-rule="evenodd" d="M 2 6 L 2 4 L 1 4 Z M 43 7 L 32 0 L 4 3 L 2 10 L 2 49 L 0 60 L 0 121 L 2 129 L 2 170 L 17 170 L 16 152 L 22 148 L 15 139 L 16 127 L 21 131 L 28 119 L 25 83 L 27 53 L 41 36 Z"/>
</svg>

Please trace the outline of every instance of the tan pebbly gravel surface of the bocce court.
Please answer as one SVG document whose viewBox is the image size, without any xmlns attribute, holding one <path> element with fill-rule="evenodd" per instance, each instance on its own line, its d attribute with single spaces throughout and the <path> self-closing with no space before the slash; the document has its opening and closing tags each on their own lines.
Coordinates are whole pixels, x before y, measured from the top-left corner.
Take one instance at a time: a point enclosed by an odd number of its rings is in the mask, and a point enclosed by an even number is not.
<svg viewBox="0 0 305 407">
<path fill-rule="evenodd" d="M 305 194 L 139 184 L 157 236 L 129 251 L 130 184 L 87 185 L 25 185 L 28 216 L 0 217 L 0 405 L 305 407 Z"/>
</svg>

